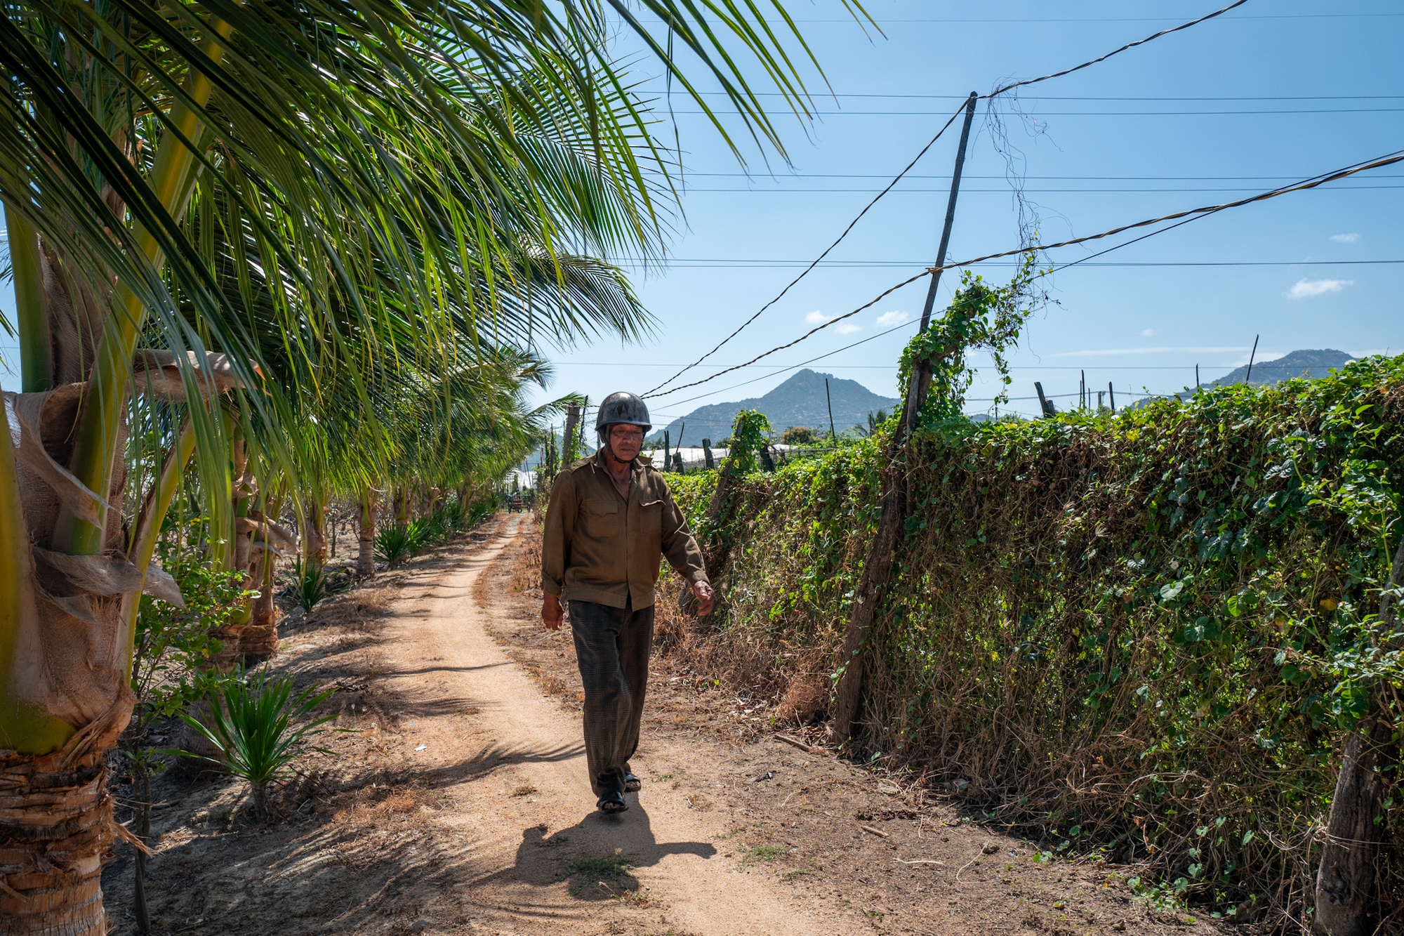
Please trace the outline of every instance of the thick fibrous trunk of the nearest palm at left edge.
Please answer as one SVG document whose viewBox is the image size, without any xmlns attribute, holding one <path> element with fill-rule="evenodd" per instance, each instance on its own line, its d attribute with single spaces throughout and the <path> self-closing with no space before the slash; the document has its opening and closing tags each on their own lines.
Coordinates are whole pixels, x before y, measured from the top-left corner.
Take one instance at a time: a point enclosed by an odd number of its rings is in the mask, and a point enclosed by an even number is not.
<svg viewBox="0 0 1404 936">
<path fill-rule="evenodd" d="M 187 91 L 204 105 L 211 84 L 192 73 Z M 170 117 L 199 138 L 188 108 Z M 167 135 L 150 178 L 167 209 L 184 204 L 192 167 Z M 17 216 L 7 212 L 11 232 Z M 136 235 L 159 266 L 156 240 Z M 0 410 L 0 437 L 20 438 L 0 444 L 0 921 L 7 933 L 95 936 L 107 932 L 102 864 L 131 835 L 112 818 L 104 759 L 132 714 L 124 606 L 146 578 L 122 537 L 119 457 L 145 309 L 125 287 L 86 281 L 56 247 L 31 250 L 31 236 L 17 274 L 28 392 L 4 408 L 17 426 Z M 53 288 L 35 291 L 37 278 Z"/>
</svg>

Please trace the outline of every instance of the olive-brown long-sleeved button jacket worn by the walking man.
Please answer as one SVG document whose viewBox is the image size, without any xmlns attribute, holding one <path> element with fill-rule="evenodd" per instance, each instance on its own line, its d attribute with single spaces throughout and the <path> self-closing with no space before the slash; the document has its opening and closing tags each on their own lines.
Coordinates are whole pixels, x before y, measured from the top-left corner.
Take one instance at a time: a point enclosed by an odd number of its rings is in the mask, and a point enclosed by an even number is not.
<svg viewBox="0 0 1404 936">
<path fill-rule="evenodd" d="M 560 472 L 546 509 L 541 586 L 567 602 L 651 607 L 661 557 L 688 582 L 706 582 L 702 551 L 663 475 L 644 458 L 632 465 L 625 500 L 604 454 Z"/>
</svg>

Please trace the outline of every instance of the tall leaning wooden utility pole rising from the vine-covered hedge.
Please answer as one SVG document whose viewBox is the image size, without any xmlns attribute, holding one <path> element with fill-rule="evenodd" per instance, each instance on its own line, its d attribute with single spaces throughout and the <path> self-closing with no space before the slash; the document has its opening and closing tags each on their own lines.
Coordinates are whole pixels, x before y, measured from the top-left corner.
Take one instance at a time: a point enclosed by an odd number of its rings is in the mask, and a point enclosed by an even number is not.
<svg viewBox="0 0 1404 936">
<path fill-rule="evenodd" d="M 956 197 L 960 194 L 960 171 L 965 169 L 965 150 L 970 142 L 970 121 L 974 119 L 974 105 L 980 98 L 970 91 L 966 98 L 966 118 L 960 126 L 960 145 L 956 148 L 956 166 L 951 174 L 951 197 L 946 201 L 946 219 L 941 229 L 941 246 L 936 249 L 936 271 L 931 274 L 931 285 L 927 288 L 927 304 L 921 311 L 921 330 L 931 326 L 931 309 L 936 304 L 936 287 L 941 285 L 941 267 L 946 261 L 946 247 L 951 246 L 951 226 L 956 219 Z M 897 531 L 906 513 L 906 496 L 901 488 L 901 478 L 897 471 L 897 453 L 911 431 L 917 427 L 917 412 L 927 399 L 931 389 L 931 364 L 918 361 L 907 385 L 907 399 L 903 402 L 901 424 L 892 440 L 889 448 L 887 467 L 882 478 L 882 513 L 878 517 L 878 531 L 868 547 L 868 558 L 863 562 L 858 587 L 854 589 L 854 603 L 848 618 L 848 628 L 844 631 L 844 649 L 840 656 L 842 675 L 834 693 L 834 717 L 828 722 L 828 738 L 834 743 L 847 743 L 848 732 L 858 713 L 858 701 L 863 689 L 863 639 L 872 625 L 873 613 L 878 610 L 878 600 L 882 587 L 892 573 L 892 562 L 897 551 Z"/>
</svg>

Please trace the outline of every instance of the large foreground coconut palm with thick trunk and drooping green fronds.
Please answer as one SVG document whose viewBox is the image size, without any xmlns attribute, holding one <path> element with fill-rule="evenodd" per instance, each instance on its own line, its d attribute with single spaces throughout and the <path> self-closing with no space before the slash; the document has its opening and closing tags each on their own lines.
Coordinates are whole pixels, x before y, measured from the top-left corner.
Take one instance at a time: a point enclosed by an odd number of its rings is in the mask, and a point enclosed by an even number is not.
<svg viewBox="0 0 1404 936">
<path fill-rule="evenodd" d="M 779 143 L 737 49 L 807 114 L 768 25 L 710 0 L 639 8 L 755 139 Z M 566 259 L 658 256 L 665 235 L 671 155 L 608 56 L 607 10 L 663 56 L 622 0 L 6 7 L 0 198 L 24 392 L 0 412 L 20 438 L 0 446 L 0 839 L 34 856 L 0 894 L 15 932 L 105 928 L 101 856 L 122 832 L 102 756 L 131 714 L 135 590 L 160 587 L 147 544 L 191 457 L 233 540 L 212 547 L 241 562 L 249 465 L 295 476 L 282 429 L 309 401 L 372 420 L 358 431 L 383 460 L 375 395 L 461 364 L 463 336 L 644 326 L 626 305 L 581 313 L 573 291 L 611 273 Z M 524 268 L 556 306 L 531 301 Z M 143 347 L 168 358 L 153 368 Z M 133 472 L 150 489 L 129 495 L 128 433 L 152 422 L 164 430 L 140 434 Z M 131 535 L 124 499 L 143 505 Z"/>
</svg>

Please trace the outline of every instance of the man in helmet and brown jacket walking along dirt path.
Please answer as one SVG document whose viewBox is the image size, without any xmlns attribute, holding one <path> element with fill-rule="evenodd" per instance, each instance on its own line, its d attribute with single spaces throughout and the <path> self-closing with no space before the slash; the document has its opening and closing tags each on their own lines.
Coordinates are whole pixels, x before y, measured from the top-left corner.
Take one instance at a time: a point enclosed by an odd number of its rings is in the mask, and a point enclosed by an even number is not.
<svg viewBox="0 0 1404 936">
<path fill-rule="evenodd" d="M 585 763 L 605 814 L 628 810 L 623 794 L 640 786 L 629 758 L 639 748 L 660 557 L 691 583 L 698 614 L 712 613 L 702 551 L 663 475 L 639 458 L 650 429 L 649 408 L 633 394 L 600 403 L 600 451 L 552 485 L 541 555 L 546 630 L 560 628 L 560 602 L 570 603 L 585 684 Z"/>
</svg>

